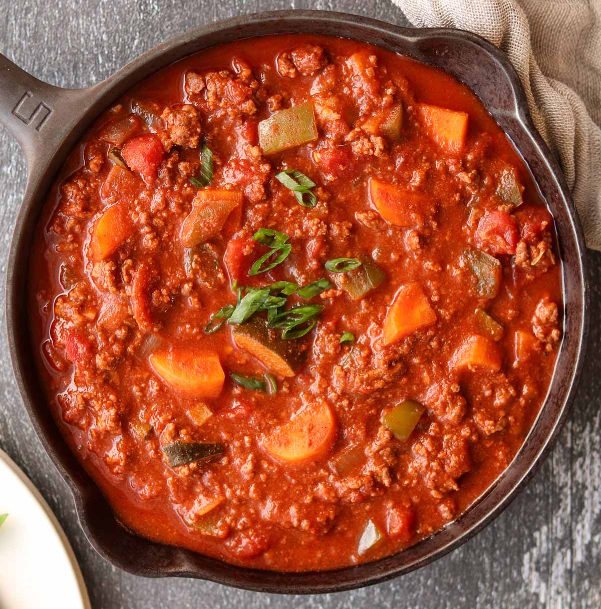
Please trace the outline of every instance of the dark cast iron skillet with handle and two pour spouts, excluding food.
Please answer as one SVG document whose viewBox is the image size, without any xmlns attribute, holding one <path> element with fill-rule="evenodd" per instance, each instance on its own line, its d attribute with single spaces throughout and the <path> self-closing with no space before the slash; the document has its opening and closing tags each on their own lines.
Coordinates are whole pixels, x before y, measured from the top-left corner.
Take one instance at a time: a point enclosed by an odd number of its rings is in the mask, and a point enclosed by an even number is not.
<svg viewBox="0 0 601 609">
<path fill-rule="evenodd" d="M 477 93 L 521 152 L 555 217 L 566 306 L 563 344 L 543 409 L 511 465 L 477 504 L 432 537 L 393 556 L 337 571 L 283 574 L 227 565 L 153 543 L 119 525 L 46 407 L 26 330 L 26 292 L 33 229 L 47 190 L 100 111 L 140 80 L 196 51 L 239 38 L 298 32 L 356 38 L 410 55 L 445 69 Z M 585 245 L 563 175 L 532 124 L 518 77 L 507 58 L 482 38 L 459 30 L 406 29 L 342 13 L 288 10 L 244 15 L 173 38 L 85 90 L 47 85 L 0 55 L 0 120 L 23 147 L 29 169 L 7 270 L 6 319 L 16 383 L 40 442 L 71 488 L 86 537 L 113 565 L 139 576 L 196 577 L 272 593 L 325 593 L 382 582 L 426 565 L 482 529 L 516 496 L 552 445 L 583 361 L 588 327 Z"/>
</svg>

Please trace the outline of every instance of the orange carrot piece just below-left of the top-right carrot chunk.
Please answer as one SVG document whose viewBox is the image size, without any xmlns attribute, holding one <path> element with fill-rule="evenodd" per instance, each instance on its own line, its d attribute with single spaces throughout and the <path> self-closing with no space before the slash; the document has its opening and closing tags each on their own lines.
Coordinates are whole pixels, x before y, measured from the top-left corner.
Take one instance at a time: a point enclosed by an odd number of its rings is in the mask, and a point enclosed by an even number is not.
<svg viewBox="0 0 601 609">
<path fill-rule="evenodd" d="M 382 218 L 398 227 L 418 224 L 421 213 L 431 206 L 429 197 L 421 192 L 398 188 L 377 178 L 370 178 L 369 193 L 371 205 Z"/>
</svg>

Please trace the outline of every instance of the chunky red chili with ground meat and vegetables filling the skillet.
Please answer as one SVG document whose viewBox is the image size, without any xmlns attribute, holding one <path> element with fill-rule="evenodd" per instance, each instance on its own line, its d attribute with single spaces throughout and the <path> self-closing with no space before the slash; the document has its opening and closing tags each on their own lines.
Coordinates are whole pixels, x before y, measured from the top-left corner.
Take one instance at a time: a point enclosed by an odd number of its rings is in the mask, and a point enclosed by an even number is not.
<svg viewBox="0 0 601 609">
<path fill-rule="evenodd" d="M 524 441 L 561 339 L 554 240 L 443 72 L 327 37 L 209 49 L 102 114 L 49 197 L 48 404 L 141 535 L 281 571 L 392 554 Z"/>
</svg>

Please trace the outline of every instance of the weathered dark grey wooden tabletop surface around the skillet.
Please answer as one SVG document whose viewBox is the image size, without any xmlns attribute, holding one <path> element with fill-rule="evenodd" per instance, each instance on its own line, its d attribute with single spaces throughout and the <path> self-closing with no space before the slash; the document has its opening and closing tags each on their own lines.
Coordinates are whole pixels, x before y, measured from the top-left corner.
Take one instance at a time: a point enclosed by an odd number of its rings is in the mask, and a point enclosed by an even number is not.
<svg viewBox="0 0 601 609">
<path fill-rule="evenodd" d="M 186 29 L 239 13 L 289 8 L 341 10 L 406 24 L 399 9 L 385 0 L 0 0 L 0 51 L 43 80 L 86 86 Z M 25 181 L 23 155 L 0 127 L 2 317 L 10 233 Z M 588 258 L 589 357 L 554 451 L 518 499 L 480 535 L 433 565 L 390 583 L 328 596 L 278 597 L 194 580 L 141 579 L 112 568 L 83 537 L 69 491 L 24 414 L 4 323 L 0 446 L 32 479 L 65 527 L 96 609 L 601 607 L 601 358 L 596 352 L 601 345 L 601 254 L 589 252 Z M 1 496 L 0 490 L 0 502 Z"/>
</svg>

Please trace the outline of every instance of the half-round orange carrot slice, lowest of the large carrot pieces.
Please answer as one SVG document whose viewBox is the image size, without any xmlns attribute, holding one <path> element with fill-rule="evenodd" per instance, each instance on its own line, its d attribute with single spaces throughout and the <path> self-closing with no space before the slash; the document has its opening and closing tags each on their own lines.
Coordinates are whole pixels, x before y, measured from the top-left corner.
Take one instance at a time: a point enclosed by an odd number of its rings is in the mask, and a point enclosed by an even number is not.
<svg viewBox="0 0 601 609">
<path fill-rule="evenodd" d="M 262 439 L 274 457 L 296 463 L 316 457 L 328 448 L 336 429 L 332 410 L 323 401 L 308 404 Z"/>
</svg>

